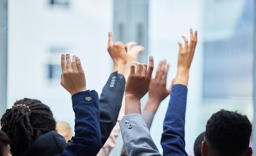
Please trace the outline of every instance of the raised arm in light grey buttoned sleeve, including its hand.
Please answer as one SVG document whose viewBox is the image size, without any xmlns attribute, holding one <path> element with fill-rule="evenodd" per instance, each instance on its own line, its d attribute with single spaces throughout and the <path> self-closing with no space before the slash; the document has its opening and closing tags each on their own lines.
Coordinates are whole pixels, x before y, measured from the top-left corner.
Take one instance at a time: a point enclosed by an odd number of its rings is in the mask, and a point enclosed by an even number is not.
<svg viewBox="0 0 256 156">
<path fill-rule="evenodd" d="M 146 64 L 132 62 L 125 88 L 125 116 L 120 121 L 121 134 L 129 156 L 158 156 L 144 119 L 141 117 L 140 99 L 148 92 L 153 71 L 153 57 Z M 137 70 L 135 70 L 137 66 Z"/>
</svg>

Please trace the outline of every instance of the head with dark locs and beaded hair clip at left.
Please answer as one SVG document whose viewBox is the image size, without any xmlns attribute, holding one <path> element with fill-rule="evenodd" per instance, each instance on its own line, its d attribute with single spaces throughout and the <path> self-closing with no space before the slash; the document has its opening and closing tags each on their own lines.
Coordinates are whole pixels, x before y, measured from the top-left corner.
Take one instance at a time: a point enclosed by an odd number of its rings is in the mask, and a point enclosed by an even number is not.
<svg viewBox="0 0 256 156">
<path fill-rule="evenodd" d="M 11 140 L 13 156 L 22 156 L 39 136 L 55 130 L 56 122 L 47 105 L 36 99 L 25 98 L 6 110 L 1 126 Z"/>
</svg>

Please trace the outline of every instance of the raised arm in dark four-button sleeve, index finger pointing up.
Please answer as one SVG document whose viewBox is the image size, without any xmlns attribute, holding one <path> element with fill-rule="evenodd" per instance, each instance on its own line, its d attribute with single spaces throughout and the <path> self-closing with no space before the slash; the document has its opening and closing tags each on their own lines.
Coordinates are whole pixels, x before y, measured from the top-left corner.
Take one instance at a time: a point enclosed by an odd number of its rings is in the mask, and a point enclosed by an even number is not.
<svg viewBox="0 0 256 156">
<path fill-rule="evenodd" d="M 102 146 L 117 122 L 124 96 L 125 79 L 123 73 L 127 59 L 126 45 L 122 42 L 113 43 L 112 34 L 109 33 L 108 35 L 108 53 L 114 62 L 114 66 L 99 99 Z"/>
</svg>

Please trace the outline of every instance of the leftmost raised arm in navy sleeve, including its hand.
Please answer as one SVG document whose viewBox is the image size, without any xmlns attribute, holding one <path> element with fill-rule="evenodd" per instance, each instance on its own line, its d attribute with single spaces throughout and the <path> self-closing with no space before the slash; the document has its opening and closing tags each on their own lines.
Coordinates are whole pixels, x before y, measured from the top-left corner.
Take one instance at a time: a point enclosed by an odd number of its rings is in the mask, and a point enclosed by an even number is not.
<svg viewBox="0 0 256 156">
<path fill-rule="evenodd" d="M 101 148 L 99 97 L 86 91 L 86 81 L 79 57 L 61 55 L 61 85 L 72 95 L 75 112 L 75 136 L 58 156 L 95 156 Z"/>
</svg>

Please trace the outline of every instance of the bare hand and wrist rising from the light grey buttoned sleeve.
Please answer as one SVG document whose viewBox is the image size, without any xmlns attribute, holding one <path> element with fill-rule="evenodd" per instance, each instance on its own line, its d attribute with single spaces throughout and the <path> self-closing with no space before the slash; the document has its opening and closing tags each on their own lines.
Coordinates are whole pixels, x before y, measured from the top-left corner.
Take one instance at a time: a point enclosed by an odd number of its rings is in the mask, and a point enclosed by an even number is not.
<svg viewBox="0 0 256 156">
<path fill-rule="evenodd" d="M 135 70 L 135 64 L 137 70 Z M 141 113 L 140 99 L 148 92 L 152 71 L 154 68 L 154 59 L 149 57 L 149 65 L 147 70 L 146 64 L 132 62 L 130 66 L 130 74 L 128 76 L 125 87 L 125 114 Z"/>
</svg>

